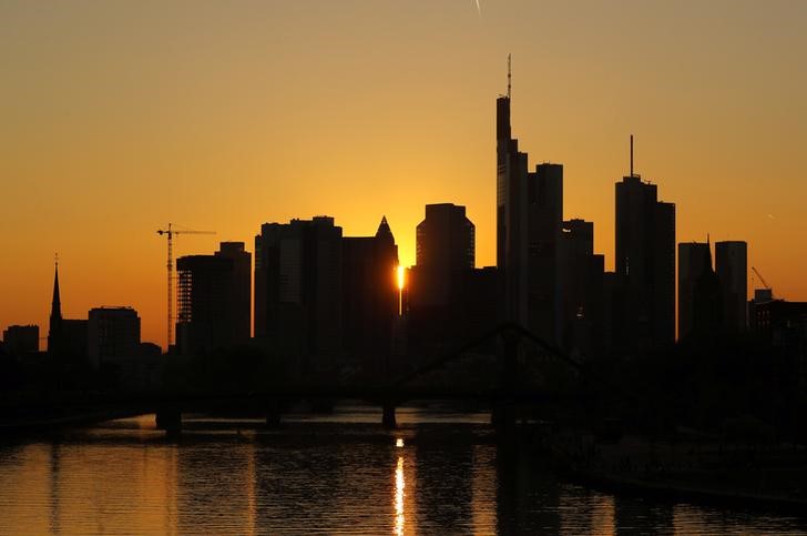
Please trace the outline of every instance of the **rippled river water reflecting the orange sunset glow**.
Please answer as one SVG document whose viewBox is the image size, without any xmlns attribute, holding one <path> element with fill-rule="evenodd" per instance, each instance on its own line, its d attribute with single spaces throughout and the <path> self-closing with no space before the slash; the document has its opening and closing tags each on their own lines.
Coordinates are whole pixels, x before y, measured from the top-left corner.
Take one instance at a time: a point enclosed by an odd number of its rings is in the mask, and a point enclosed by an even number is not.
<svg viewBox="0 0 807 536">
<path fill-rule="evenodd" d="M 788 517 L 558 482 L 534 453 L 497 445 L 478 415 L 412 411 L 389 433 L 376 424 L 380 416 L 370 423 L 364 412 L 305 417 L 279 431 L 191 422 L 177 443 L 165 441 L 151 416 L 0 445 L 0 534 L 807 530 Z"/>
</svg>

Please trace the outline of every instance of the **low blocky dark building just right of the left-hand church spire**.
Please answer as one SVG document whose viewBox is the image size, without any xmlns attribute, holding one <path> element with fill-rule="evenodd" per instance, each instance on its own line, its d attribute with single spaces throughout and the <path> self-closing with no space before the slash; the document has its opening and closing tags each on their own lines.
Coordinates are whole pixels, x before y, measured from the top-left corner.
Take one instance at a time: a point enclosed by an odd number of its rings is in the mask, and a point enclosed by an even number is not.
<svg viewBox="0 0 807 536">
<path fill-rule="evenodd" d="M 140 316 L 132 307 L 96 307 L 88 314 L 88 356 L 95 367 L 140 353 Z"/>
</svg>

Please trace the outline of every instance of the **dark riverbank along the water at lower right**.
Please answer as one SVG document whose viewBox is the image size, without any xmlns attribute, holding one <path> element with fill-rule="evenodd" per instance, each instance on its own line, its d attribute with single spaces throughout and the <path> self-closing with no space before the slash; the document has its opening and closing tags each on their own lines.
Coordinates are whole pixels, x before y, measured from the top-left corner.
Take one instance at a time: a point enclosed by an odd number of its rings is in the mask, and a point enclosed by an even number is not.
<svg viewBox="0 0 807 536">
<path fill-rule="evenodd" d="M 561 473 L 607 493 L 807 515 L 807 451 L 791 445 L 651 442 L 551 444 Z"/>
</svg>

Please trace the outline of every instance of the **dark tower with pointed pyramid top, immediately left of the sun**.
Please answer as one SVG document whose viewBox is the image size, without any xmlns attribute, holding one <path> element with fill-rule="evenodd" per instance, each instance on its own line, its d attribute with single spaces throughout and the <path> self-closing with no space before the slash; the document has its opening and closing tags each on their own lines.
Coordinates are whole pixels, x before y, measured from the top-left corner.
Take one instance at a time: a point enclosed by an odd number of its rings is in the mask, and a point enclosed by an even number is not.
<svg viewBox="0 0 807 536">
<path fill-rule="evenodd" d="M 341 244 L 346 355 L 365 372 L 385 372 L 398 317 L 395 236 L 381 218 L 374 236 L 345 236 Z"/>
</svg>

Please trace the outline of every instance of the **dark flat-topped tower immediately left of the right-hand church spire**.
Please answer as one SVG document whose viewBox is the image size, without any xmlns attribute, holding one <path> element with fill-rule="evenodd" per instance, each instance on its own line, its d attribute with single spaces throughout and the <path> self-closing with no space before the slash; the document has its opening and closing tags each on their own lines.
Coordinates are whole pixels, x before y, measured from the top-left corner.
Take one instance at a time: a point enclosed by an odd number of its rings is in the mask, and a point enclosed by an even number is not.
<svg viewBox="0 0 807 536">
<path fill-rule="evenodd" d="M 708 272 L 712 272 L 712 250 L 708 243 L 678 244 L 678 340 L 681 341 L 693 332 L 703 331 L 695 325 L 695 304 L 703 302 L 696 299 L 696 291 L 698 283 L 707 277 Z"/>
</svg>

